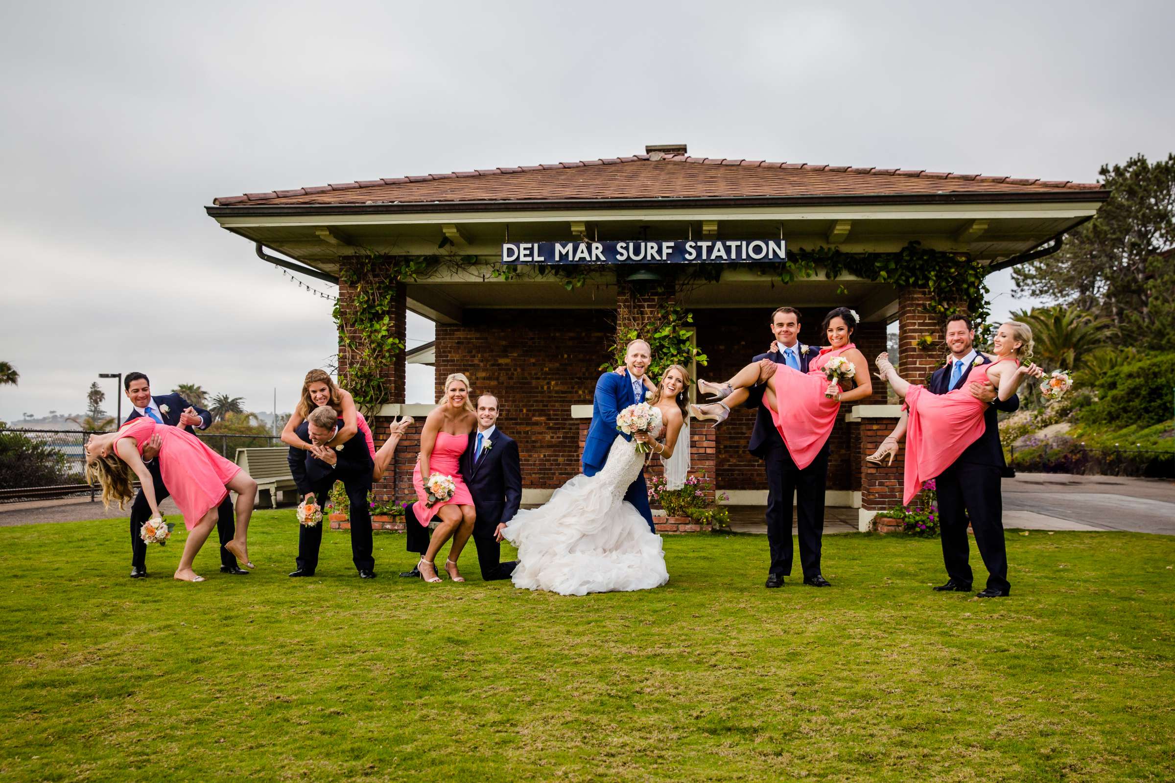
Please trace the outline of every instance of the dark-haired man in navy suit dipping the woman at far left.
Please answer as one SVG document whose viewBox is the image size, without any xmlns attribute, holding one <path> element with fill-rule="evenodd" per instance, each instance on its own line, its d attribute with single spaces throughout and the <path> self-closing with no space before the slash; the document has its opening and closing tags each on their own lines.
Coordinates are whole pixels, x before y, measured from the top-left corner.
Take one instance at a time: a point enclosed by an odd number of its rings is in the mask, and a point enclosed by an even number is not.
<svg viewBox="0 0 1175 783">
<path fill-rule="evenodd" d="M 168 427 L 183 427 L 193 435 L 196 434 L 192 429 L 193 427 L 208 429 L 213 423 L 213 415 L 210 413 L 203 408 L 189 406 L 188 401 L 179 394 L 152 396 L 150 380 L 142 373 L 128 373 L 122 379 L 122 388 L 132 404 L 130 415 L 127 416 L 127 421 L 147 416 Z M 152 478 L 155 480 L 155 497 L 162 503 L 163 498 L 170 493 L 163 486 L 163 477 L 159 471 L 159 460 L 155 459 L 157 454 L 157 443 L 148 443 L 143 448 L 143 462 L 147 464 L 147 469 L 150 470 Z M 233 501 L 228 495 L 224 496 L 224 501 L 217 507 L 216 513 L 219 514 L 216 534 L 220 536 L 221 542 L 221 573 L 243 576 L 249 571 L 239 567 L 233 553 L 224 549 L 224 542 L 231 541 L 233 535 L 236 533 Z M 140 531 L 142 530 L 143 522 L 149 518 L 150 506 L 147 504 L 147 498 L 143 496 L 142 489 L 140 489 L 135 495 L 134 502 L 130 504 L 130 578 L 133 580 L 147 576 L 147 544 L 140 537 Z"/>
</svg>

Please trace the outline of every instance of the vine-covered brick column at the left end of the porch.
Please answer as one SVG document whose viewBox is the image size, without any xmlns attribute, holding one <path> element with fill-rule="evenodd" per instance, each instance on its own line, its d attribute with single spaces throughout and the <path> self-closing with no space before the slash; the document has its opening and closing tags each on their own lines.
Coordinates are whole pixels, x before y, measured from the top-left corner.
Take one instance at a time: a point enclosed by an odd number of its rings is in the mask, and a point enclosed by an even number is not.
<svg viewBox="0 0 1175 783">
<path fill-rule="evenodd" d="M 345 260 L 343 263 L 348 263 Z M 404 286 L 394 281 L 389 281 L 385 277 L 381 277 L 378 269 L 374 273 L 364 274 L 362 280 L 358 282 L 360 286 L 367 287 L 368 290 L 372 288 L 380 292 L 380 297 L 384 301 L 392 301 L 390 323 L 388 329 L 388 336 L 394 340 L 400 340 L 401 344 L 405 343 L 405 290 Z M 344 330 L 345 334 L 352 340 L 360 340 L 361 336 L 358 332 L 354 328 L 348 327 L 348 322 L 354 319 L 357 309 L 355 301 L 356 286 L 348 285 L 342 280 L 338 283 L 338 310 L 340 310 L 340 329 Z M 343 341 L 343 335 L 340 335 L 338 341 L 338 376 L 343 377 L 347 369 L 360 361 L 357 353 L 351 352 L 347 348 Z M 384 388 L 387 389 L 389 403 L 402 403 L 404 402 L 404 350 L 401 349 L 391 362 L 387 367 L 380 368 L 380 375 L 383 380 Z M 391 427 L 391 419 L 387 416 L 369 416 L 368 426 L 371 428 L 371 434 L 375 436 L 376 449 L 388 440 Z M 372 495 L 376 500 L 408 500 L 410 495 L 405 495 L 403 491 L 403 486 L 407 483 L 409 491 L 411 491 L 411 475 L 412 475 L 412 459 L 416 449 L 411 446 L 414 437 L 418 440 L 419 426 L 412 428 L 404 439 L 401 440 L 400 446 L 396 449 L 396 460 L 391 466 L 389 466 L 388 471 L 384 474 L 383 480 L 372 487 Z M 414 435 L 415 433 L 415 435 Z M 407 477 L 403 475 L 404 462 L 407 456 Z"/>
</svg>

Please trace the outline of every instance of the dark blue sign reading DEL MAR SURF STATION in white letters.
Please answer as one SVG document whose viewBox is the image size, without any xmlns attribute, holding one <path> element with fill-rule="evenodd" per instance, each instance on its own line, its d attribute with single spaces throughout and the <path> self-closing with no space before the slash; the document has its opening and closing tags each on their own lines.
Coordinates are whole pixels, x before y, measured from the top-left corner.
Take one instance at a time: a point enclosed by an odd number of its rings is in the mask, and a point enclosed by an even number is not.
<svg viewBox="0 0 1175 783">
<path fill-rule="evenodd" d="M 733 263 L 779 262 L 784 240 L 673 240 L 650 242 L 505 242 L 502 263 Z"/>
</svg>

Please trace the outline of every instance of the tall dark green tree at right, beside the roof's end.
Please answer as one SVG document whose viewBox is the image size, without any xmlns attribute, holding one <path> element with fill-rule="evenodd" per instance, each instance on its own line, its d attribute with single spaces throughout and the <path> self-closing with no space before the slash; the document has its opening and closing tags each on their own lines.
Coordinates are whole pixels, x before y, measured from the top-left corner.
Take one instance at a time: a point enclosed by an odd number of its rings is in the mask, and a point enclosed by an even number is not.
<svg viewBox="0 0 1175 783">
<path fill-rule="evenodd" d="M 1175 333 L 1161 328 L 1173 317 L 1175 153 L 1155 163 L 1135 155 L 1100 176 L 1109 200 L 1059 253 L 1013 270 L 1018 295 L 1108 317 L 1140 347 L 1175 347 Z"/>
</svg>

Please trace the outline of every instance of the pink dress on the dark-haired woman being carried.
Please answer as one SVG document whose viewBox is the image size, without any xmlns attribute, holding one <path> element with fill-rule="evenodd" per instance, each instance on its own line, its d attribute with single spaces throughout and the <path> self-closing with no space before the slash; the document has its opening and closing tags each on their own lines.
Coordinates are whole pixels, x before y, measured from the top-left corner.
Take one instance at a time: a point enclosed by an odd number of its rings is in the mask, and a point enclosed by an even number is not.
<svg viewBox="0 0 1175 783">
<path fill-rule="evenodd" d="M 801 470 L 815 460 L 832 434 L 840 413 L 840 401 L 824 396 L 828 379 L 821 369 L 833 356 L 840 356 L 850 348 L 821 348 L 820 355 L 808 363 L 808 372 L 801 373 L 779 363 L 776 369 L 776 429 L 784 439 L 792 462 Z"/>
</svg>

